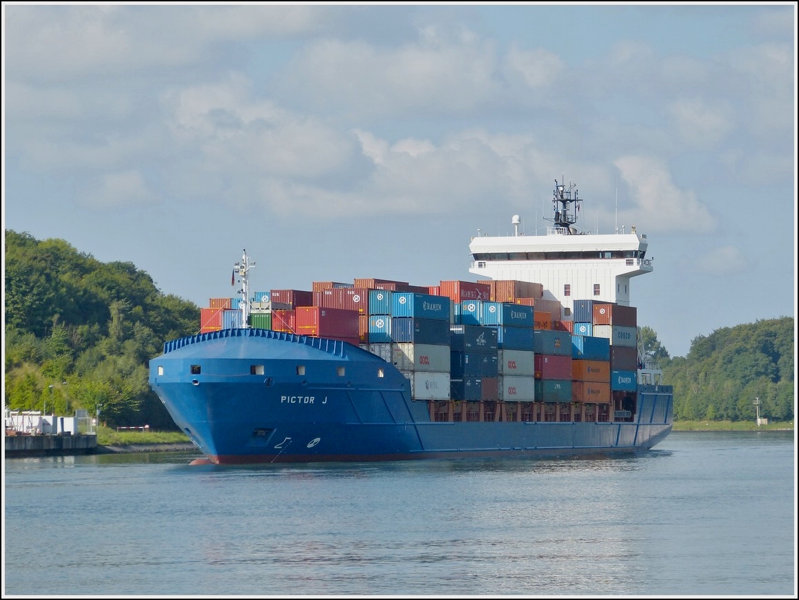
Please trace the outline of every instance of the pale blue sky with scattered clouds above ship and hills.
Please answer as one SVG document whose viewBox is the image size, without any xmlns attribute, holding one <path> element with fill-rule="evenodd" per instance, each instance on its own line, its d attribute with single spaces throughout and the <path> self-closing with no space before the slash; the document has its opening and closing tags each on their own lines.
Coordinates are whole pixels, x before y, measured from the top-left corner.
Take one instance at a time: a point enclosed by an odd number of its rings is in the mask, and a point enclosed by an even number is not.
<svg viewBox="0 0 799 600">
<path fill-rule="evenodd" d="M 670 356 L 795 316 L 797 13 L 773 4 L 5 2 L 6 229 L 207 306 L 355 278 L 475 281 L 555 179 L 635 225 Z"/>
</svg>

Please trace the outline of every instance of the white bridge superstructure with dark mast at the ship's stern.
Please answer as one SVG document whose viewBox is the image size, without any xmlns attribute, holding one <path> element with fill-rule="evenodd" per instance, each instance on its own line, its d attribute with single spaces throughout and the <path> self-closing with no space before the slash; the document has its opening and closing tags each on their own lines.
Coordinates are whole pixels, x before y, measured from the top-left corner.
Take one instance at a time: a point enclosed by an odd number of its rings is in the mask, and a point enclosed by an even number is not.
<svg viewBox="0 0 799 600">
<path fill-rule="evenodd" d="M 471 239 L 469 272 L 493 280 L 543 285 L 544 298 L 562 304 L 560 320 L 571 320 L 574 300 L 630 305 L 630 279 L 652 272 L 646 234 L 592 234 L 574 226 L 582 202 L 574 185 L 555 181 L 554 225 L 546 236 L 477 236 Z M 574 206 L 572 206 L 574 205 Z M 512 223 L 519 224 L 519 217 Z"/>
</svg>

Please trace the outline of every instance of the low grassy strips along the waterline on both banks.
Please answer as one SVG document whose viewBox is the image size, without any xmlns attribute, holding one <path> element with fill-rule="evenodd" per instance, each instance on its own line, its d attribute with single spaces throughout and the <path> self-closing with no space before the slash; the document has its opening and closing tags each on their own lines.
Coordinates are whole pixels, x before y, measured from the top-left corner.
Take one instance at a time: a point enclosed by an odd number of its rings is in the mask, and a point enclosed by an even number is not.
<svg viewBox="0 0 799 600">
<path fill-rule="evenodd" d="M 793 431 L 793 419 L 759 426 L 750 421 L 675 421 L 672 431 Z M 141 452 L 186 450 L 193 444 L 180 431 L 114 431 L 100 427 L 97 448 L 105 448 L 106 452 Z"/>
</svg>

